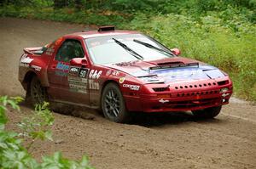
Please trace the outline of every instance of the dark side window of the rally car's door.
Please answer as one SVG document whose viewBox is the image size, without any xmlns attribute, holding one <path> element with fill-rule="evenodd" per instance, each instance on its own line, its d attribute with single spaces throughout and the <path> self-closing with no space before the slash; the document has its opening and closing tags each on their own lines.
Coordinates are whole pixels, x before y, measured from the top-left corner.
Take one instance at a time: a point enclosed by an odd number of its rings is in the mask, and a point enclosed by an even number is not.
<svg viewBox="0 0 256 169">
<path fill-rule="evenodd" d="M 59 48 L 55 60 L 69 62 L 73 58 L 84 58 L 84 50 L 78 40 L 67 39 Z"/>
</svg>

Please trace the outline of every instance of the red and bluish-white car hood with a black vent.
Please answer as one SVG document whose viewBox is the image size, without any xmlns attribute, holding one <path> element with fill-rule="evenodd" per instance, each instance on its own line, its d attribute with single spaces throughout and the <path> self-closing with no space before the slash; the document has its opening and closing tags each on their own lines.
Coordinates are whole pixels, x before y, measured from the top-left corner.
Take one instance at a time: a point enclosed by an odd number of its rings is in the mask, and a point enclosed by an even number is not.
<svg viewBox="0 0 256 169">
<path fill-rule="evenodd" d="M 183 82 L 225 76 L 222 71 L 212 65 L 182 57 L 150 61 L 137 60 L 106 66 L 135 76 L 144 83 Z"/>
</svg>

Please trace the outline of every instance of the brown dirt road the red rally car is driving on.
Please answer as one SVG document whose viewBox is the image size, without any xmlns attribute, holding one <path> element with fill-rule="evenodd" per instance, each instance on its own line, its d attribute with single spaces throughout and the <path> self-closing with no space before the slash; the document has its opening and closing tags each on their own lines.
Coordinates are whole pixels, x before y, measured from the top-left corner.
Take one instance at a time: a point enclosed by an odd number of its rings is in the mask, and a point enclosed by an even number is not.
<svg viewBox="0 0 256 169">
<path fill-rule="evenodd" d="M 83 30 L 40 20 L 0 18 L 0 95 L 25 95 L 17 80 L 22 48 L 42 46 L 63 34 Z M 23 112 L 9 112 L 15 129 Z M 37 142 L 33 155 L 60 150 L 79 159 L 90 156 L 96 168 L 256 168 L 256 106 L 232 99 L 214 120 L 195 121 L 187 112 L 137 115 L 132 124 L 116 124 L 93 110 L 84 118 L 55 114 L 54 142 Z M 87 118 L 92 115 L 94 118 Z"/>
</svg>

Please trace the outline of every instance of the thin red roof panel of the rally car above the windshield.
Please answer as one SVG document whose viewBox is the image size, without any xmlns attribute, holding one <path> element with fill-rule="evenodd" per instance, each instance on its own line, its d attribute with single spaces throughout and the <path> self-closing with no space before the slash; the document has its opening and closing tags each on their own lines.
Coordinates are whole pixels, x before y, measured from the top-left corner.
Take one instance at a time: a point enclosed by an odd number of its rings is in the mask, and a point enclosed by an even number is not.
<svg viewBox="0 0 256 169">
<path fill-rule="evenodd" d="M 79 31 L 72 34 L 68 34 L 64 37 L 69 36 L 78 36 L 82 37 L 84 39 L 90 38 L 90 37 L 103 37 L 103 36 L 109 36 L 109 35 L 122 35 L 122 34 L 135 34 L 138 33 L 137 31 L 123 31 L 123 30 L 115 30 L 115 31 Z"/>
</svg>

